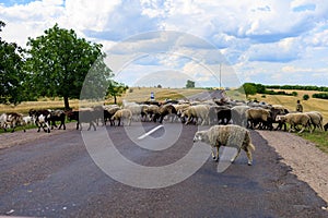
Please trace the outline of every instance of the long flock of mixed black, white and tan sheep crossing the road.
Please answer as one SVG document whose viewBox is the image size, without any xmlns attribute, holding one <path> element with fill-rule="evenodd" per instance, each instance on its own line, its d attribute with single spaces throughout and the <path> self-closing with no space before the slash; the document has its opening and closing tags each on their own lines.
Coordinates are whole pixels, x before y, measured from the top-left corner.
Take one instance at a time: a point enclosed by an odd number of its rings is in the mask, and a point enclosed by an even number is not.
<svg viewBox="0 0 328 218">
<path fill-rule="evenodd" d="M 45 132 L 50 132 L 50 128 L 56 126 L 56 121 L 60 121 L 59 128 L 63 126 L 65 129 L 66 118 L 77 120 L 77 129 L 82 129 L 81 123 L 87 122 L 90 124 L 89 130 L 91 128 L 96 130 L 99 122 L 103 125 L 106 125 L 107 122 L 110 125 L 120 125 L 122 121 L 124 124 L 130 125 L 132 121 L 162 123 L 164 119 L 171 122 L 183 122 L 186 125 L 236 124 L 247 129 L 283 129 L 284 131 L 286 131 L 286 123 L 289 123 L 290 132 L 298 130 L 300 133 L 306 129 L 313 132 L 316 128 L 321 131 L 328 128 L 328 123 L 323 124 L 324 117 L 319 111 L 291 112 L 281 105 L 213 100 L 168 101 L 164 104 L 124 101 L 122 106 L 106 105 L 70 111 L 31 109 L 28 116 L 16 112 L 2 113 L 0 128 L 4 130 L 11 128 L 14 131 L 17 125 L 25 126 L 34 122 L 38 126 L 38 131 L 43 128 Z"/>
</svg>

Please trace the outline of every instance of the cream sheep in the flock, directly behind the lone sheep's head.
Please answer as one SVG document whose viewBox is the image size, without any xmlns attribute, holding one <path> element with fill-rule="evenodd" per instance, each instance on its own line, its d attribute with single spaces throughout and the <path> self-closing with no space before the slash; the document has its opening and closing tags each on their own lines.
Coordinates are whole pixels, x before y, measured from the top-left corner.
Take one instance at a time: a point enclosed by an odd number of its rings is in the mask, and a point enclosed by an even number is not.
<svg viewBox="0 0 328 218">
<path fill-rule="evenodd" d="M 209 107 L 204 105 L 189 106 L 183 111 L 181 117 L 187 117 L 186 125 L 190 123 L 194 118 L 196 122 L 200 118 L 202 120 L 201 125 L 204 125 L 209 121 Z"/>
</svg>

